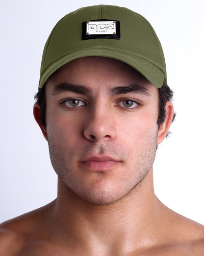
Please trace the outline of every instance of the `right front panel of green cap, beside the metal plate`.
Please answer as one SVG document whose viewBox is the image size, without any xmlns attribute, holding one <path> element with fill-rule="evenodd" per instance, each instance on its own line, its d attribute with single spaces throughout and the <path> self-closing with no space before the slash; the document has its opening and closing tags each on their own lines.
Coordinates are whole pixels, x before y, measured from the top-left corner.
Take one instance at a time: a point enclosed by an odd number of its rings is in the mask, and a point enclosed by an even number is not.
<svg viewBox="0 0 204 256">
<path fill-rule="evenodd" d="M 124 7 L 106 6 L 105 19 L 120 21 L 121 40 L 106 40 L 107 48 L 118 48 L 136 54 L 163 69 L 157 43 L 147 20 Z M 116 45 L 117 44 L 117 45 Z"/>
</svg>

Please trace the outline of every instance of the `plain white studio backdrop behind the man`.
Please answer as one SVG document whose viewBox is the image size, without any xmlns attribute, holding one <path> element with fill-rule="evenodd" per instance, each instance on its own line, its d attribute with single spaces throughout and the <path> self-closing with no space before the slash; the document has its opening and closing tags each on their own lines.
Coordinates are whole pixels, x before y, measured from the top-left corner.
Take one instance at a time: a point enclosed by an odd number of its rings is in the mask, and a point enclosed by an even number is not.
<svg viewBox="0 0 204 256">
<path fill-rule="evenodd" d="M 0 222 L 56 197 L 57 176 L 34 121 L 45 42 L 77 8 L 125 6 L 157 33 L 177 117 L 154 162 L 157 197 L 204 224 L 204 0 L 0 0 Z"/>
</svg>

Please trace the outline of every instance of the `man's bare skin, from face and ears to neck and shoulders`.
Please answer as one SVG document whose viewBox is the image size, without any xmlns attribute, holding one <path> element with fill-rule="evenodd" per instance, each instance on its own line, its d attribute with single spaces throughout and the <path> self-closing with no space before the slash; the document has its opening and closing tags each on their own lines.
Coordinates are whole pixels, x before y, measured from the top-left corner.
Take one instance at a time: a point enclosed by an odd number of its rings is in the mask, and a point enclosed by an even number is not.
<svg viewBox="0 0 204 256">
<path fill-rule="evenodd" d="M 61 83 L 89 94 L 54 90 Z M 146 90 L 113 93 L 134 84 Z M 171 125 L 172 103 L 158 129 L 157 89 L 128 65 L 100 57 L 64 65 L 46 96 L 46 128 L 37 104 L 34 116 L 59 177 L 57 198 L 1 224 L 0 255 L 204 255 L 204 226 L 167 208 L 153 190 L 156 145 Z"/>
</svg>

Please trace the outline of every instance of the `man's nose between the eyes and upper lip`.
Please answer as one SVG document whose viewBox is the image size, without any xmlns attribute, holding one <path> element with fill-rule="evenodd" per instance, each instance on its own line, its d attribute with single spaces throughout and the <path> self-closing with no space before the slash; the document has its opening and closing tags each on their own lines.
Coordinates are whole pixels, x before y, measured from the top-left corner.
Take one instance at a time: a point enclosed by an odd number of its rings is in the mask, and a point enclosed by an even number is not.
<svg viewBox="0 0 204 256">
<path fill-rule="evenodd" d="M 84 136 L 90 141 L 111 140 L 116 135 L 113 115 L 107 109 L 95 108 L 86 119 Z"/>
</svg>

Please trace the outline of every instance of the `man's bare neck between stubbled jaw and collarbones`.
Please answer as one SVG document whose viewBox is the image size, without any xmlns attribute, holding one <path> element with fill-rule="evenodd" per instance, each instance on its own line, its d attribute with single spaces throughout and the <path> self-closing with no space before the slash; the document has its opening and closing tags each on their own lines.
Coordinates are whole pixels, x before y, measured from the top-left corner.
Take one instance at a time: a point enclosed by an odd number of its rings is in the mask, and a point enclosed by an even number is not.
<svg viewBox="0 0 204 256">
<path fill-rule="evenodd" d="M 74 239 L 86 250 L 90 247 L 95 255 L 94 250 L 100 251 L 100 247 L 110 253 L 114 244 L 120 247 L 120 252 L 126 252 L 135 246 L 135 241 L 137 246 L 143 247 L 156 242 L 153 239 L 157 237 L 154 233 L 159 225 L 160 202 L 153 190 L 152 169 L 141 184 L 110 205 L 91 204 L 66 192 L 65 187 L 59 179 L 58 196 L 51 211 L 56 224 L 54 229 L 63 232 L 61 237 Z"/>
</svg>

